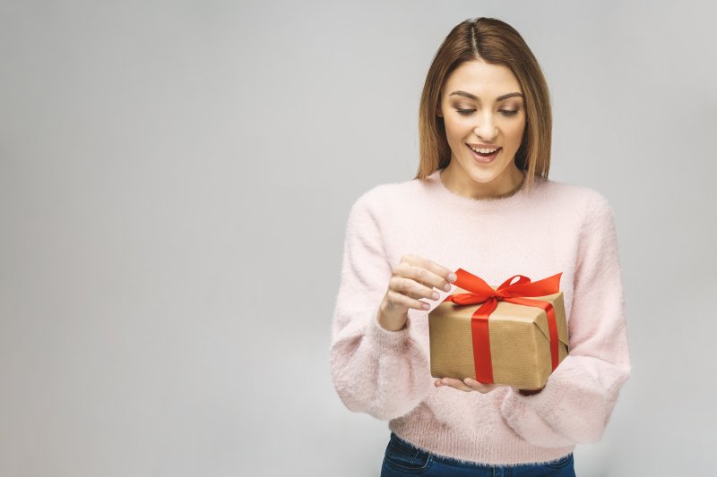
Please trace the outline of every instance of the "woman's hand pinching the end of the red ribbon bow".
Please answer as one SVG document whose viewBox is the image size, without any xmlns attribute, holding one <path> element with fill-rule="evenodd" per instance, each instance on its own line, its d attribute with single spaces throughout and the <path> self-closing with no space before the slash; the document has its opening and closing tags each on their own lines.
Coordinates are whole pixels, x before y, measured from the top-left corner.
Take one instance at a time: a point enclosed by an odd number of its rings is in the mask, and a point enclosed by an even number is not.
<svg viewBox="0 0 717 477">
<path fill-rule="evenodd" d="M 393 267 L 384 301 L 378 308 L 378 324 L 390 331 L 402 329 L 410 308 L 421 311 L 430 308 L 430 304 L 419 301 L 420 298 L 437 300 L 440 295 L 433 288 L 449 292 L 456 278 L 453 271 L 436 262 L 418 255 L 403 255 L 401 262 Z"/>
</svg>

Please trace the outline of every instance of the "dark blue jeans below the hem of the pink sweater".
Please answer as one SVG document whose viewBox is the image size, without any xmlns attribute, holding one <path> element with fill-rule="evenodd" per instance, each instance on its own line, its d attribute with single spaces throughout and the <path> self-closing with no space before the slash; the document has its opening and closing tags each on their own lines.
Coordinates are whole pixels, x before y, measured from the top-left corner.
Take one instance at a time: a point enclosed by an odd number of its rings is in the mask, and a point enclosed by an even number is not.
<svg viewBox="0 0 717 477">
<path fill-rule="evenodd" d="M 540 477 L 555 475 L 574 477 L 573 454 L 550 464 L 483 465 L 462 464 L 449 457 L 436 456 L 415 447 L 391 432 L 386 446 L 381 477 L 404 475 L 429 475 L 450 477 Z"/>
</svg>

